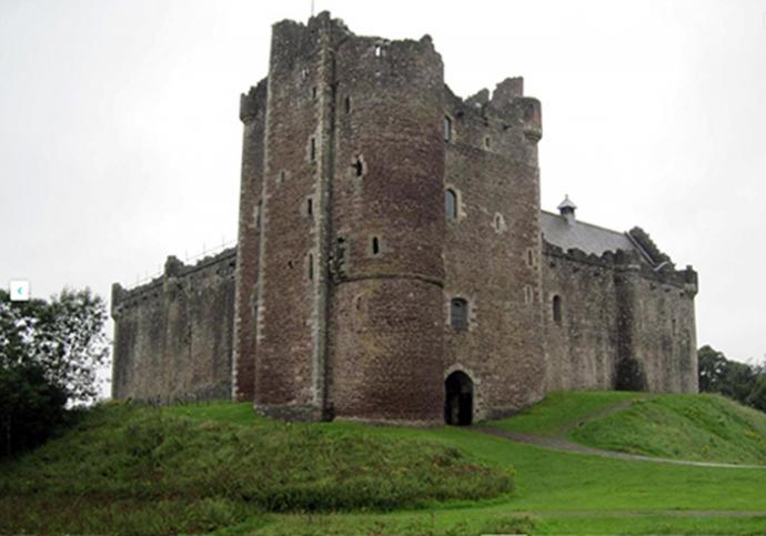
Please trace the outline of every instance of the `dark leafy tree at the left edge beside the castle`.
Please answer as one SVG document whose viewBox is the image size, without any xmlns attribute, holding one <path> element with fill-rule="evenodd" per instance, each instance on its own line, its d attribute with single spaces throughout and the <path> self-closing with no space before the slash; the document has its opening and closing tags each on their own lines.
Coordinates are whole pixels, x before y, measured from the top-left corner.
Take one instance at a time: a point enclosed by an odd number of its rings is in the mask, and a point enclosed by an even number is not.
<svg viewBox="0 0 766 536">
<path fill-rule="evenodd" d="M 6 454 L 43 441 L 67 405 L 95 400 L 109 356 L 107 307 L 90 290 L 50 302 L 11 302 L 0 291 L 0 434 Z"/>
</svg>

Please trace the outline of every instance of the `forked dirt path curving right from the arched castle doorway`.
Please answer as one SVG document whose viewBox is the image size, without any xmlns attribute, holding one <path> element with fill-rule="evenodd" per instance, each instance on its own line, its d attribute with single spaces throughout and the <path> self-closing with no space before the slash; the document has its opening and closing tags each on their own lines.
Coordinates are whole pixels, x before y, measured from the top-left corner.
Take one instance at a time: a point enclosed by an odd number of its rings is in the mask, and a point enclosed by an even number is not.
<svg viewBox="0 0 766 536">
<path fill-rule="evenodd" d="M 567 432 L 571 432 L 572 429 L 576 428 L 577 426 L 592 421 L 594 418 L 603 417 L 605 415 L 609 415 L 612 413 L 618 412 L 619 409 L 623 409 L 625 407 L 628 407 L 632 404 L 631 401 L 625 401 L 621 402 L 619 404 L 615 404 L 614 406 L 607 407 L 605 409 L 601 409 L 598 412 L 594 412 L 592 414 L 588 414 L 584 418 L 579 418 L 577 421 L 574 421 L 562 428 L 558 429 L 558 433 L 564 435 Z M 578 443 L 573 443 L 568 439 L 565 439 L 564 437 L 547 437 L 547 436 L 541 436 L 541 435 L 534 435 L 534 434 L 523 434 L 520 432 L 508 432 L 506 429 L 502 428 L 496 428 L 494 426 L 483 426 L 483 425 L 476 425 L 476 426 L 471 426 L 471 428 L 482 432 L 483 434 L 490 434 L 494 435 L 496 437 L 503 437 L 505 439 L 511 439 L 515 441 L 517 443 L 526 443 L 527 445 L 536 445 L 536 446 L 542 446 L 545 448 L 551 448 L 554 451 L 562 451 L 562 452 L 567 452 L 567 453 L 575 453 L 575 454 L 589 454 L 593 456 L 602 456 L 605 458 L 615 458 L 615 459 L 627 459 L 632 462 L 654 462 L 654 463 L 659 463 L 659 464 L 675 464 L 675 465 L 692 465 L 696 467 L 724 467 L 724 468 L 736 468 L 736 469 L 766 469 L 766 465 L 736 465 L 736 464 L 720 464 L 716 462 L 692 462 L 692 461 L 686 461 L 686 459 L 672 459 L 672 458 L 655 458 L 652 456 L 642 456 L 639 454 L 627 454 L 627 453 L 618 453 L 615 451 L 604 451 L 602 448 L 594 448 L 585 445 L 581 445 Z"/>
</svg>

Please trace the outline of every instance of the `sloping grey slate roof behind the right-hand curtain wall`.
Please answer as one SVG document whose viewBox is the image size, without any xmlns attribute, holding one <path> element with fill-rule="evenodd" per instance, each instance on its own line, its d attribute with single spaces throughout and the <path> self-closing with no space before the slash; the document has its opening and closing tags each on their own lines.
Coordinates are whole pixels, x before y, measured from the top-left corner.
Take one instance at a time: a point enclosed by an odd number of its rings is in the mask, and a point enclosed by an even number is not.
<svg viewBox="0 0 766 536">
<path fill-rule="evenodd" d="M 606 251 L 636 250 L 625 233 L 579 221 L 570 225 L 565 216 L 551 212 L 541 211 L 540 225 L 543 237 L 564 251 L 574 249 L 601 255 Z"/>
</svg>

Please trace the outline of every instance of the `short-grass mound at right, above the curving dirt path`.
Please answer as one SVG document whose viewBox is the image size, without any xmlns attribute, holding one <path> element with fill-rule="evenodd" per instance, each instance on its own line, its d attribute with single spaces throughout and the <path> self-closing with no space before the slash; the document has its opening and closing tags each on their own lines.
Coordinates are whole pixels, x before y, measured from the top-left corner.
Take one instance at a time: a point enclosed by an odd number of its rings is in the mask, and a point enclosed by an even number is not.
<svg viewBox="0 0 766 536">
<path fill-rule="evenodd" d="M 766 414 L 718 395 L 659 395 L 572 431 L 585 445 L 676 459 L 766 464 Z"/>
</svg>

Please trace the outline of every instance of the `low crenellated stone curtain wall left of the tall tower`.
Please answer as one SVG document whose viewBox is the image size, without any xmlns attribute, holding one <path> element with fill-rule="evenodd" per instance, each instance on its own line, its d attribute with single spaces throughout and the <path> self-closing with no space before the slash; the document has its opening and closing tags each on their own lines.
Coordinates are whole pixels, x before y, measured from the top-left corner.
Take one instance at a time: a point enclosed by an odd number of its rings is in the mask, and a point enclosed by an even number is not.
<svg viewBox="0 0 766 536">
<path fill-rule="evenodd" d="M 137 289 L 112 287 L 112 397 L 168 403 L 231 396 L 235 251 Z"/>
</svg>

